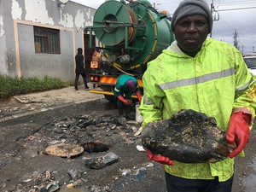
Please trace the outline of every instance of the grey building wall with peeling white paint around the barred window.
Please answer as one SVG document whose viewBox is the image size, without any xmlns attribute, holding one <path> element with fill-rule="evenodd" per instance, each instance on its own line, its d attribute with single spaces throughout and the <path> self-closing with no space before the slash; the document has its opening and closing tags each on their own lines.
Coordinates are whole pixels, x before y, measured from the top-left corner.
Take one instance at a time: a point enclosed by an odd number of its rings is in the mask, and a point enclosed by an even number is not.
<svg viewBox="0 0 256 192">
<path fill-rule="evenodd" d="M 71 1 L 0 1 L 0 74 L 73 82 L 74 56 L 84 48 L 84 27 L 92 25 L 95 11 Z M 60 30 L 61 54 L 35 53 L 34 26 Z"/>
</svg>

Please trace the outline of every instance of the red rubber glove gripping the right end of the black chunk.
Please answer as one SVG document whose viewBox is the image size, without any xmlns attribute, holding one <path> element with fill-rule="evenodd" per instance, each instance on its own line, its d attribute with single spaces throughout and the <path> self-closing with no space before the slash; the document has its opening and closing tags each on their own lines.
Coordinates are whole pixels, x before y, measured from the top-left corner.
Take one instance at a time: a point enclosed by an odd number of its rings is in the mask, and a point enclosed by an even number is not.
<svg viewBox="0 0 256 192">
<path fill-rule="evenodd" d="M 250 129 L 249 123 L 251 122 L 252 115 L 248 113 L 233 113 L 230 117 L 230 125 L 226 133 L 226 139 L 229 143 L 236 142 L 236 149 L 229 154 L 230 158 L 240 154 L 242 149 L 246 147 L 249 137 Z"/>
</svg>

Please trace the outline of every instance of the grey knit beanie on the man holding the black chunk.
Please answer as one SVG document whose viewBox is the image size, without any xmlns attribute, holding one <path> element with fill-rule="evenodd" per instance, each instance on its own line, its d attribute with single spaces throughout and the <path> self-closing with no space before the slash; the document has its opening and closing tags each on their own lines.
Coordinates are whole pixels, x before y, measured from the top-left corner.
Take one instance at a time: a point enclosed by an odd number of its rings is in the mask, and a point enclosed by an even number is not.
<svg viewBox="0 0 256 192">
<path fill-rule="evenodd" d="M 212 32 L 212 13 L 204 0 L 183 0 L 172 15 L 172 32 L 177 22 L 190 15 L 204 15 L 207 17 L 209 33 Z"/>
</svg>

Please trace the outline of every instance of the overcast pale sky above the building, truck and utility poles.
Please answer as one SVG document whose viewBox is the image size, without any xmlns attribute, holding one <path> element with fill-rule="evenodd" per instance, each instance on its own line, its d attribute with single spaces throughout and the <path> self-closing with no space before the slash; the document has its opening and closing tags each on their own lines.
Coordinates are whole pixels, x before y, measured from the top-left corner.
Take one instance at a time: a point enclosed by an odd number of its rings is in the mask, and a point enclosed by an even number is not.
<svg viewBox="0 0 256 192">
<path fill-rule="evenodd" d="M 72 0 L 97 9 L 105 0 Z M 149 0 L 155 9 L 165 9 L 171 15 L 182 0 Z M 238 47 L 247 54 L 256 52 L 256 0 L 207 0 L 213 3 L 214 12 L 212 38 L 234 44 L 238 33 Z"/>
</svg>

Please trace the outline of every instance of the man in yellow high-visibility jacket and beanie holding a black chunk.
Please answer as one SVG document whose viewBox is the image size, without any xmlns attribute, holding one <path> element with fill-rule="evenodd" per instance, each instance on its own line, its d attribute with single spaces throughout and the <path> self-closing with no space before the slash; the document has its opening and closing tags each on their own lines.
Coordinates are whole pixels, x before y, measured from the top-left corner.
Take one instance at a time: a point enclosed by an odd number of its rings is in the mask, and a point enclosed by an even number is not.
<svg viewBox="0 0 256 192">
<path fill-rule="evenodd" d="M 184 0 L 172 16 L 176 41 L 143 74 L 143 125 L 193 109 L 217 120 L 236 149 L 216 163 L 187 164 L 153 154 L 165 165 L 168 192 L 231 192 L 234 157 L 243 154 L 256 106 L 256 85 L 234 46 L 207 38 L 212 14 L 203 0 Z"/>
</svg>

